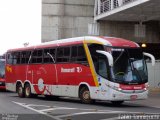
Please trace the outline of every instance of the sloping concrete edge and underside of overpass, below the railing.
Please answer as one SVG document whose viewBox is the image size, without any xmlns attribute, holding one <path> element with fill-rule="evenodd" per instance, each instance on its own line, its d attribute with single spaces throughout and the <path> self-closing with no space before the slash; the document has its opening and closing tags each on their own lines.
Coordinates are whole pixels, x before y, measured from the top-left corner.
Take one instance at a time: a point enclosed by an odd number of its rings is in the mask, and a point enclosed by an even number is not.
<svg viewBox="0 0 160 120">
<path fill-rule="evenodd" d="M 103 15 L 103 17 L 99 17 L 97 20 L 142 22 L 151 20 L 160 21 L 160 0 L 150 0 L 125 10 L 121 9 L 114 14 L 106 14 L 106 16 Z"/>
</svg>

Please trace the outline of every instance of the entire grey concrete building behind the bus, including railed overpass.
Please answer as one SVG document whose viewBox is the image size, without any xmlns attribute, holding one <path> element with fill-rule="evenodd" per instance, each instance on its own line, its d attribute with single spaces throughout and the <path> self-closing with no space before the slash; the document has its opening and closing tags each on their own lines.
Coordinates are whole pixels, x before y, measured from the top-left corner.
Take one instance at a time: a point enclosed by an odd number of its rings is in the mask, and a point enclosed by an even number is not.
<svg viewBox="0 0 160 120">
<path fill-rule="evenodd" d="M 42 42 L 103 35 L 160 43 L 159 0 L 42 0 Z"/>
</svg>

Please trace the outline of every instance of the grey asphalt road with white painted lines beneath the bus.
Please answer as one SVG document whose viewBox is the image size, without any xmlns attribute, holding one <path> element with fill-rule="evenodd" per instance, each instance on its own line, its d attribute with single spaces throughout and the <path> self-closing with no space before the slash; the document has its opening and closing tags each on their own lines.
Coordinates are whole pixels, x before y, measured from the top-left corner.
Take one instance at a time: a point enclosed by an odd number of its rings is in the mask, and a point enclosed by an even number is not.
<svg viewBox="0 0 160 120">
<path fill-rule="evenodd" d="M 16 93 L 0 92 L 0 120 L 139 120 L 140 117 L 160 119 L 160 94 L 114 106 L 106 101 L 82 104 L 73 98 L 19 98 Z"/>
</svg>

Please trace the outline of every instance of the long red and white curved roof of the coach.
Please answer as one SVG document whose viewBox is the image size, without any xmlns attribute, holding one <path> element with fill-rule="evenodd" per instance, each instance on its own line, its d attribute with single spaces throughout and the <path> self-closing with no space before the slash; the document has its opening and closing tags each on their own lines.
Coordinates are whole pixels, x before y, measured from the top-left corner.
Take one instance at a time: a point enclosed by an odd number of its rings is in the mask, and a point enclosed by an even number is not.
<svg viewBox="0 0 160 120">
<path fill-rule="evenodd" d="M 114 46 L 114 47 L 139 47 L 139 45 L 133 41 L 129 41 L 122 38 L 116 37 L 106 37 L 106 36 L 84 36 L 84 37 L 75 37 L 75 38 L 67 38 L 61 40 L 54 40 L 50 42 L 41 43 L 35 46 L 23 47 L 10 49 L 10 51 L 23 51 L 23 50 L 32 50 L 36 48 L 47 48 L 47 47 L 56 47 L 56 46 L 66 46 L 66 45 L 74 45 L 80 43 L 98 43 L 106 46 Z"/>
</svg>

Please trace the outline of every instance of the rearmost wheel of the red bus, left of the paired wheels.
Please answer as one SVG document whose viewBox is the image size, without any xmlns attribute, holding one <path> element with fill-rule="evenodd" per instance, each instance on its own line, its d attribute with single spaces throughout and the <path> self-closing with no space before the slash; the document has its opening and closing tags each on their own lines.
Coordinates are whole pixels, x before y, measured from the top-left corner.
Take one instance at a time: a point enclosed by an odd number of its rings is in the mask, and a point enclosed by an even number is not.
<svg viewBox="0 0 160 120">
<path fill-rule="evenodd" d="M 16 82 L 16 92 L 18 93 L 18 96 L 20 98 L 24 97 L 24 88 L 23 88 L 23 85 L 20 81 Z"/>
</svg>

